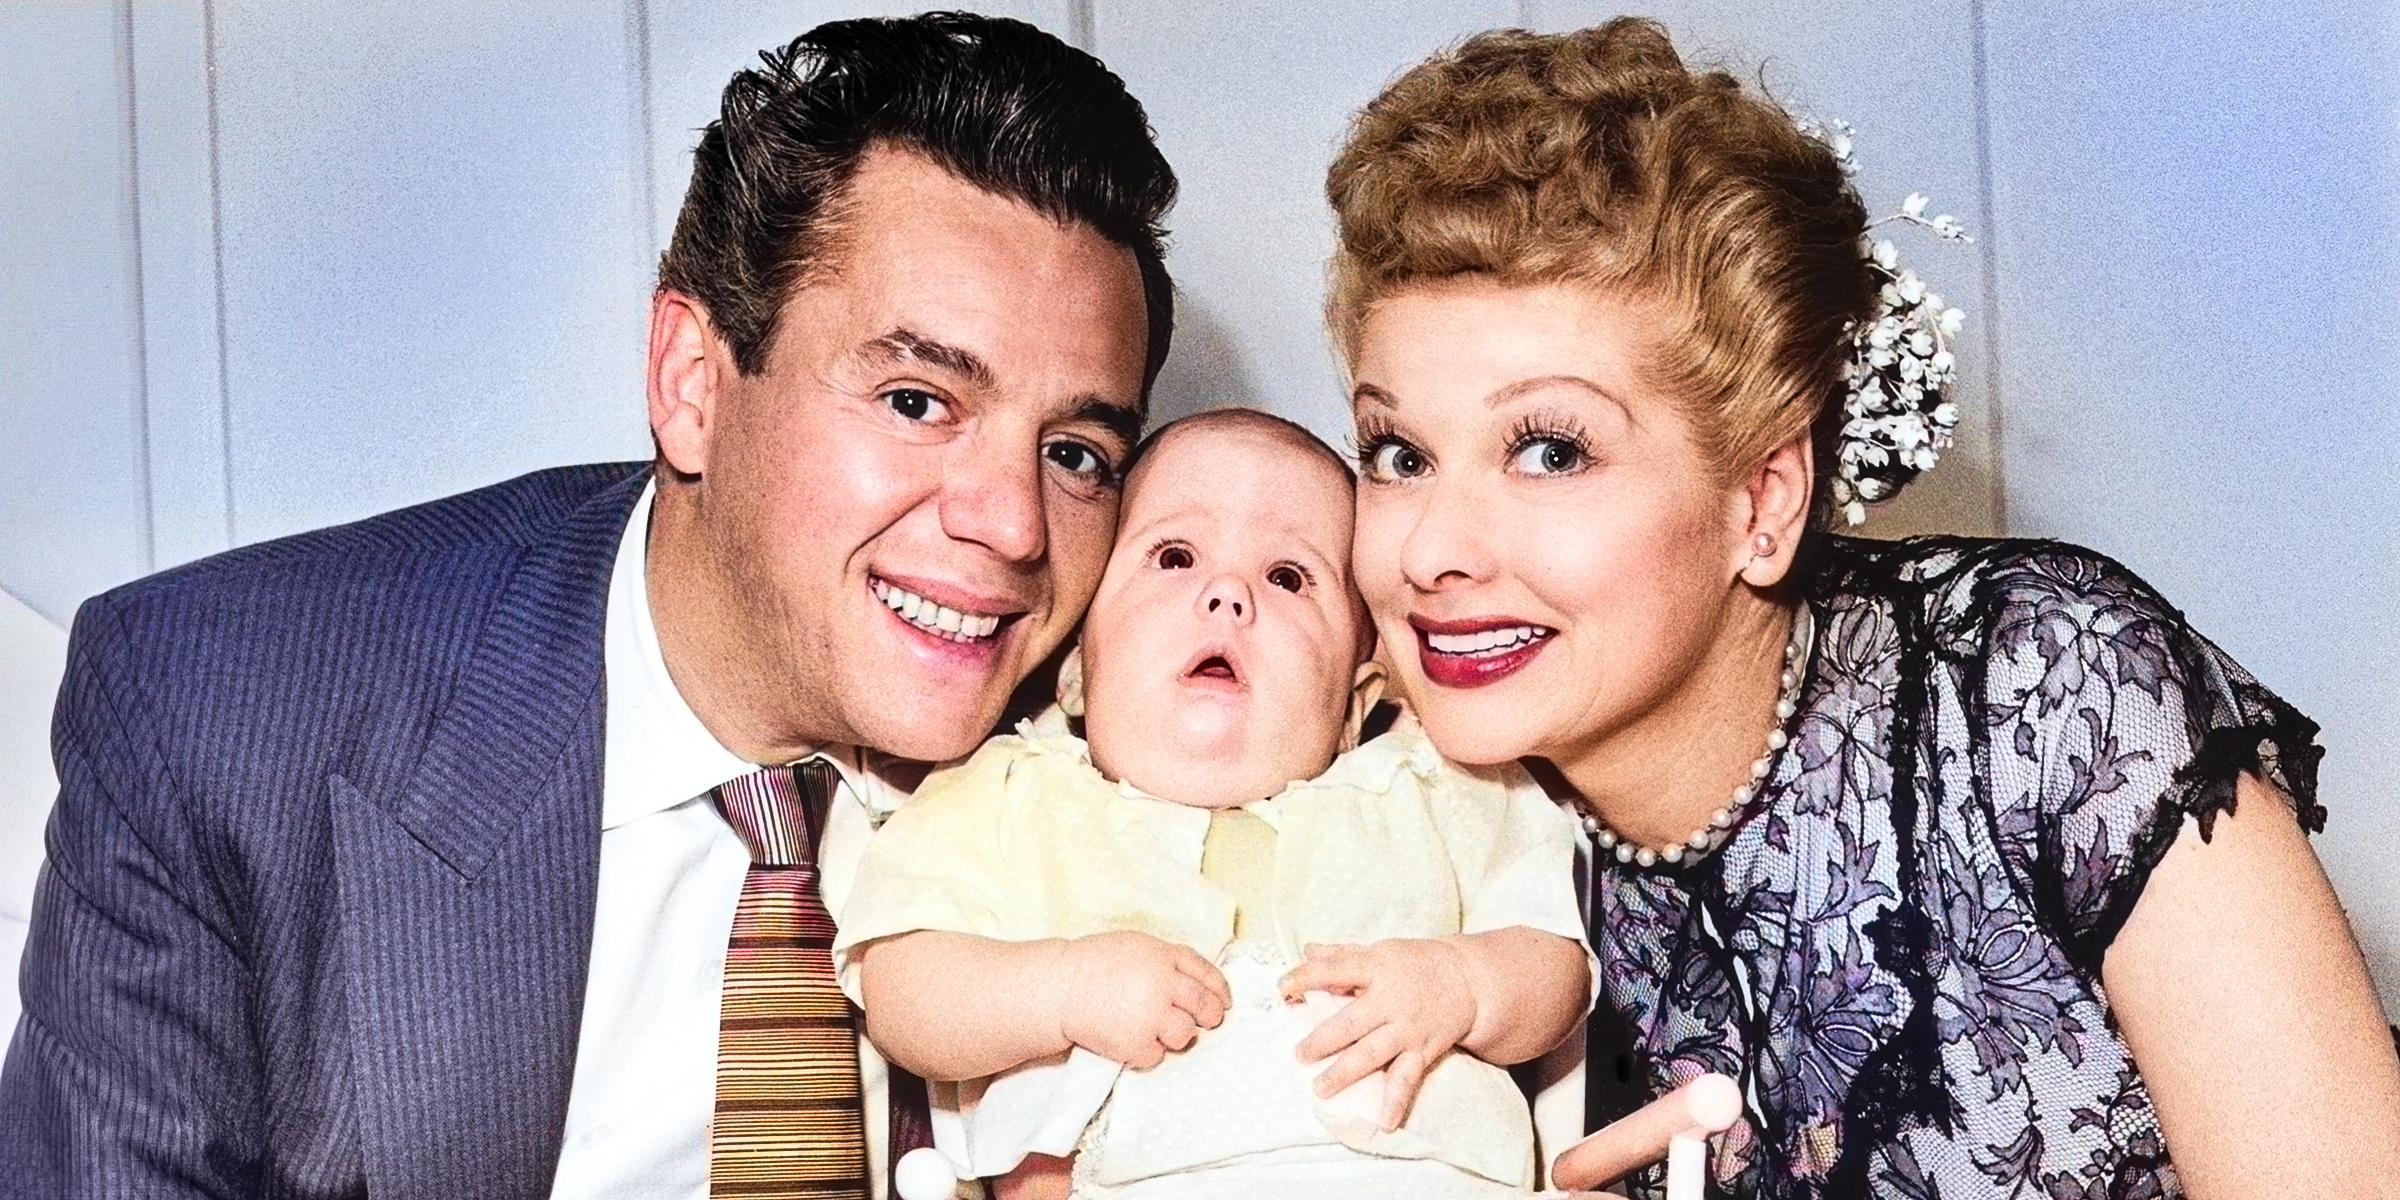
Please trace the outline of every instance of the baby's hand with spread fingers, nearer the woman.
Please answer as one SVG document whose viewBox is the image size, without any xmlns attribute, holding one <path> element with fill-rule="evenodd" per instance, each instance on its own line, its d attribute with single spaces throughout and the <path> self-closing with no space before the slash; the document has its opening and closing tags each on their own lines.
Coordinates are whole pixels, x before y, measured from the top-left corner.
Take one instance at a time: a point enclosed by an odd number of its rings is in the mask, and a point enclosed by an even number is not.
<svg viewBox="0 0 2400 1200">
<path fill-rule="evenodd" d="M 1373 946 L 1310 946 L 1308 962 L 1284 974 L 1284 998 L 1308 991 L 1354 996 L 1301 1039 L 1301 1061 L 1339 1054 L 1318 1075 L 1318 1094 L 1387 1070 L 1382 1128 L 1399 1128 L 1433 1063 L 1476 1027 L 1476 989 L 1466 955 L 1438 938 L 1390 938 Z"/>
</svg>

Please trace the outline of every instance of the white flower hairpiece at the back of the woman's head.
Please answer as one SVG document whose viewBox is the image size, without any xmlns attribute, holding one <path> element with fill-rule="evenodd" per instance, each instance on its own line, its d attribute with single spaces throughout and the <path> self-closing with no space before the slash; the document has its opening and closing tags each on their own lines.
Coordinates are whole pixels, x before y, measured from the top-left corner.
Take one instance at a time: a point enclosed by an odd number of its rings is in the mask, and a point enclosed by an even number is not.
<svg viewBox="0 0 2400 1200">
<path fill-rule="evenodd" d="M 1848 122 L 1802 118 L 1798 125 L 1834 151 L 1843 175 L 1858 173 Z M 1958 406 L 1949 401 L 1958 360 L 1949 338 L 1966 324 L 1966 312 L 1944 305 L 1915 271 L 1901 266 L 1889 238 L 1872 235 L 1877 226 L 1901 221 L 1951 242 L 1973 242 L 1956 216 L 1925 216 L 1925 192 L 1913 192 L 1898 211 L 1867 221 L 1858 238 L 1877 300 L 1874 317 L 1850 326 L 1853 358 L 1841 370 L 1834 504 L 1850 526 L 1867 521 L 1867 504 L 1891 499 L 1908 480 L 1932 470 L 1958 427 Z"/>
</svg>

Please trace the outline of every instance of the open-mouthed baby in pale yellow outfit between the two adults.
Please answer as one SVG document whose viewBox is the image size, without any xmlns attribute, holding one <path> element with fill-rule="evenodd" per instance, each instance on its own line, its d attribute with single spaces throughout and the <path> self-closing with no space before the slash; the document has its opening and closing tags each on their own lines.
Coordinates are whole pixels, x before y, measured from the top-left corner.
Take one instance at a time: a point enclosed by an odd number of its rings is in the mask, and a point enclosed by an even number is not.
<svg viewBox="0 0 2400 1200">
<path fill-rule="evenodd" d="M 1351 490 L 1282 418 L 1159 430 L 1061 706 L 869 845 L 835 962 L 883 1054 L 967 1080 L 936 1109 L 962 1174 L 1075 1154 L 1090 1198 L 1531 1188 L 1493 1063 L 1591 1001 L 1574 833 L 1406 718 L 1337 756 L 1380 694 Z"/>
</svg>

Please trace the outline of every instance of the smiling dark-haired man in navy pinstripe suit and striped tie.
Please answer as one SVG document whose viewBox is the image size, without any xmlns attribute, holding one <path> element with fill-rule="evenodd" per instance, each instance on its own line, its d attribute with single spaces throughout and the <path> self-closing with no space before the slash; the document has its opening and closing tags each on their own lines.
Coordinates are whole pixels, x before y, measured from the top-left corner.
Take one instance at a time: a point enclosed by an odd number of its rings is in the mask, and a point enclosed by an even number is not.
<svg viewBox="0 0 2400 1200">
<path fill-rule="evenodd" d="M 727 938 L 806 866 L 737 799 L 814 802 L 838 907 L 878 770 L 972 749 L 1078 622 L 1166 355 L 1171 197 L 1140 106 L 1046 34 L 821 26 L 701 142 L 655 463 L 84 605 L 0 1188 L 708 1193 L 710 1123 L 742 1150 L 782 1104 L 744 1099 Z M 816 1195 L 881 1195 L 876 1159 Z"/>
</svg>

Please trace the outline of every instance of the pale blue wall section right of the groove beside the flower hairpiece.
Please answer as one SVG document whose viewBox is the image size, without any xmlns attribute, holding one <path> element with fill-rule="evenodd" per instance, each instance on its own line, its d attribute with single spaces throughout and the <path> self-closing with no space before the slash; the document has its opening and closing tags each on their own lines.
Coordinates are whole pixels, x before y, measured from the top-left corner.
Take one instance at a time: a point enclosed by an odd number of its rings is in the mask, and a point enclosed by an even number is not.
<svg viewBox="0 0 2400 1200">
<path fill-rule="evenodd" d="M 2102 547 L 2323 722 L 2400 1008 L 2400 7 L 1990 10 L 2011 533 Z"/>
</svg>

